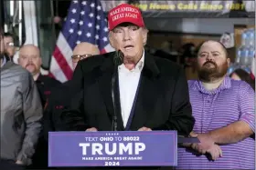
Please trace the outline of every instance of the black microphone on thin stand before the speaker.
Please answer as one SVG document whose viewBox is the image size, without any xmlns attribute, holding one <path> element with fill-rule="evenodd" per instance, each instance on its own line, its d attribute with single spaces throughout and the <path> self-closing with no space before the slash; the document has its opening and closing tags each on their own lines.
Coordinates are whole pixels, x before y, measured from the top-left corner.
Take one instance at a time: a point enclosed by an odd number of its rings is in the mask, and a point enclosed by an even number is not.
<svg viewBox="0 0 256 170">
<path fill-rule="evenodd" d="M 123 52 L 121 50 L 116 51 L 115 55 L 113 56 L 113 65 L 114 71 L 112 75 L 112 104 L 113 104 L 113 117 L 112 117 L 112 131 L 117 131 L 117 111 L 118 111 L 118 104 L 117 100 L 120 100 L 120 96 L 115 93 L 117 89 L 116 86 L 116 79 L 118 75 L 118 66 L 123 64 Z"/>
</svg>

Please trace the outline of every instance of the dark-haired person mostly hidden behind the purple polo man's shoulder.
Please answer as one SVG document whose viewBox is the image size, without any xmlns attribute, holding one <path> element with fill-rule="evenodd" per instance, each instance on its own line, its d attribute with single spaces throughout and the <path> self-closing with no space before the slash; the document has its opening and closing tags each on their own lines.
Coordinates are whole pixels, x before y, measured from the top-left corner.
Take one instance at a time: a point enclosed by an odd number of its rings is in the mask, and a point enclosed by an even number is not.
<svg viewBox="0 0 256 170">
<path fill-rule="evenodd" d="M 239 68 L 229 75 L 234 80 L 242 80 L 251 85 L 251 88 L 255 90 L 255 80 L 251 78 L 251 75 L 245 70 Z"/>
</svg>

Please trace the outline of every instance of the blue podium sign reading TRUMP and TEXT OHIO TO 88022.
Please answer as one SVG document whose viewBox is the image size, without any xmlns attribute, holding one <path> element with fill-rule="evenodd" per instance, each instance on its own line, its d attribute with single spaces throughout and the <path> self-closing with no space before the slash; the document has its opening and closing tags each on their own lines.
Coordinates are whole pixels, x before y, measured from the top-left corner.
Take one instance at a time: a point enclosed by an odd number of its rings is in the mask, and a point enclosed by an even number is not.
<svg viewBox="0 0 256 170">
<path fill-rule="evenodd" d="M 176 131 L 49 132 L 48 166 L 174 166 Z"/>
</svg>

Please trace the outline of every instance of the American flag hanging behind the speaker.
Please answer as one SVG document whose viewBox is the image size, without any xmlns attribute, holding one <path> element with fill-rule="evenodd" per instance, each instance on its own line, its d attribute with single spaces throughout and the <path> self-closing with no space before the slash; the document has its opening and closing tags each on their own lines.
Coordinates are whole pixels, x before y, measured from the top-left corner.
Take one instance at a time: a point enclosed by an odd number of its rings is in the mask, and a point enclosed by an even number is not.
<svg viewBox="0 0 256 170">
<path fill-rule="evenodd" d="M 71 55 L 80 42 L 98 45 L 101 53 L 113 51 L 108 40 L 107 20 L 99 0 L 71 2 L 69 14 L 51 57 L 50 76 L 62 83 L 72 78 Z"/>
</svg>

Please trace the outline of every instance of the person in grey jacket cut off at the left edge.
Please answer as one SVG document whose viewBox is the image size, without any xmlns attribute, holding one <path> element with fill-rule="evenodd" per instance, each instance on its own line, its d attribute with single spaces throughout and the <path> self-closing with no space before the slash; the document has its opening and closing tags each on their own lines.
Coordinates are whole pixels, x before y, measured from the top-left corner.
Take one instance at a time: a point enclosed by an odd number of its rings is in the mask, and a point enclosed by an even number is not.
<svg viewBox="0 0 256 170">
<path fill-rule="evenodd" d="M 0 169 L 22 170 L 32 164 L 43 110 L 32 75 L 20 65 L 4 62 L 4 35 L 0 33 Z"/>
</svg>

